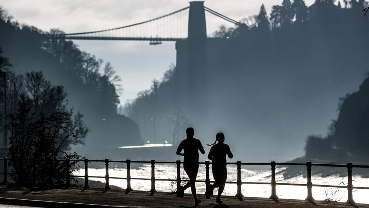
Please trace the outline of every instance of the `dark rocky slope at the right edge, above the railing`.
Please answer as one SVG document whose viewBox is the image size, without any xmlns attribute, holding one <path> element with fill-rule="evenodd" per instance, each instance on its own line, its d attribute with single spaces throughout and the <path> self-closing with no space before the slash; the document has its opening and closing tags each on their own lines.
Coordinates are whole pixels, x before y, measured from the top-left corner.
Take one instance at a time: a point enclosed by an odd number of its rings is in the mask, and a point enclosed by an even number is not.
<svg viewBox="0 0 369 208">
<path fill-rule="evenodd" d="M 310 135 L 305 146 L 305 155 L 291 162 L 353 163 L 367 164 L 369 161 L 369 77 L 358 91 L 342 98 L 337 120 L 333 120 L 327 136 Z M 345 169 L 314 167 L 313 174 L 347 175 Z M 285 177 L 300 175 L 296 167 L 284 170 Z M 305 173 L 303 173 L 305 175 Z M 355 174 L 369 177 L 367 170 L 356 169 Z"/>
</svg>

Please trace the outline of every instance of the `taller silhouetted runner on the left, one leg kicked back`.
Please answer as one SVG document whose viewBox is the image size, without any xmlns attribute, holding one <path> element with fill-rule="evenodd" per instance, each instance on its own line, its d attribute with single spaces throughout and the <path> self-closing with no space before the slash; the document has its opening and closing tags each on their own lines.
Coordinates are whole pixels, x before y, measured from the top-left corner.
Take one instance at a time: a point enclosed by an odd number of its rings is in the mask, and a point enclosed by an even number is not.
<svg viewBox="0 0 369 208">
<path fill-rule="evenodd" d="M 204 147 L 202 146 L 200 140 L 194 138 L 194 128 L 189 127 L 186 129 L 186 139 L 184 139 L 178 146 L 177 155 L 184 156 L 183 166 L 184 171 L 186 171 L 189 177 L 189 182 L 186 185 L 180 186 L 178 193 L 180 197 L 184 196 L 184 190 L 191 187 L 192 195 L 195 199 L 195 206 L 199 205 L 201 202 L 196 196 L 195 180 L 197 172 L 199 170 L 199 151 L 205 154 Z M 184 150 L 184 153 L 182 153 Z"/>
</svg>

